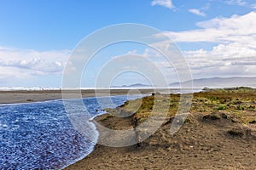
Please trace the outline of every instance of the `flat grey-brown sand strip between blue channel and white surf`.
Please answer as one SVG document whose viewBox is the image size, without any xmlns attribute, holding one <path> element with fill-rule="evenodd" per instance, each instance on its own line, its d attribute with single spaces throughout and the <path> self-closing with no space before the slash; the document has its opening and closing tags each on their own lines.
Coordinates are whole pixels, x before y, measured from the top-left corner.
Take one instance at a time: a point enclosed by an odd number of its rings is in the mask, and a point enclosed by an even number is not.
<svg viewBox="0 0 256 170">
<path fill-rule="evenodd" d="M 151 94 L 153 89 L 140 89 L 141 94 Z M 73 94 L 74 91 L 66 91 L 69 94 Z M 110 92 L 110 93 L 109 93 Z M 82 90 L 82 98 L 108 96 L 110 95 L 126 95 L 126 94 L 138 94 L 134 90 L 128 89 L 111 89 L 106 90 Z M 38 101 L 47 101 L 54 99 L 62 99 L 61 90 L 20 90 L 20 91 L 0 91 L 0 104 L 17 104 L 17 103 L 31 103 Z"/>
</svg>

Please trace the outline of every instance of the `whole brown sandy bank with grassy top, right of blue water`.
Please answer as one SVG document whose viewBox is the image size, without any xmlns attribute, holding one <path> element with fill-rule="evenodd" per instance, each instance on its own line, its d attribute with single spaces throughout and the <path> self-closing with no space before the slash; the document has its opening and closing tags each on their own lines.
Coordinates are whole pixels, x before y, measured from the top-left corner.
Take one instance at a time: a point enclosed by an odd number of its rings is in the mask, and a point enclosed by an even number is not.
<svg viewBox="0 0 256 170">
<path fill-rule="evenodd" d="M 137 132 L 138 144 L 96 144 L 89 156 L 66 169 L 256 169 L 256 89 L 205 88 L 193 94 L 183 126 L 172 134 L 170 127 L 180 99 L 181 94 L 157 93 L 107 109 L 107 114 L 94 121 L 114 130 L 146 122 L 154 101 L 160 101 L 168 111 L 148 139 L 140 141 L 142 133 Z M 161 115 L 160 110 L 156 112 Z M 98 130 L 102 135 L 100 127 Z"/>
</svg>

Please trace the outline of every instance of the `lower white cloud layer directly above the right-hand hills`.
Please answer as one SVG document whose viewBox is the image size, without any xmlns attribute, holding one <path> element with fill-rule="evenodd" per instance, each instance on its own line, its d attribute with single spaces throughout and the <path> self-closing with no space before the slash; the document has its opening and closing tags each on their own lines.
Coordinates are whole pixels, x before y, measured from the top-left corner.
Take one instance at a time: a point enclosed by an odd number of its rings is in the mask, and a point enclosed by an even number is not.
<svg viewBox="0 0 256 170">
<path fill-rule="evenodd" d="M 184 52 L 194 77 L 255 76 L 256 49 L 234 42 Z"/>
</svg>

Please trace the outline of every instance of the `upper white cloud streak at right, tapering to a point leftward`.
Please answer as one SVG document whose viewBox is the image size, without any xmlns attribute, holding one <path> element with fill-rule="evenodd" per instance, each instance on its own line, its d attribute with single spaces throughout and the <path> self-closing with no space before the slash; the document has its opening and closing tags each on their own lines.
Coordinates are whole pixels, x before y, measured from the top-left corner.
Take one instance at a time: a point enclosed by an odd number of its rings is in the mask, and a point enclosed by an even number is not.
<svg viewBox="0 0 256 170">
<path fill-rule="evenodd" d="M 201 29 L 190 31 L 166 31 L 174 42 L 240 42 L 255 48 L 256 12 L 233 15 L 230 18 L 215 18 L 197 23 Z"/>
</svg>

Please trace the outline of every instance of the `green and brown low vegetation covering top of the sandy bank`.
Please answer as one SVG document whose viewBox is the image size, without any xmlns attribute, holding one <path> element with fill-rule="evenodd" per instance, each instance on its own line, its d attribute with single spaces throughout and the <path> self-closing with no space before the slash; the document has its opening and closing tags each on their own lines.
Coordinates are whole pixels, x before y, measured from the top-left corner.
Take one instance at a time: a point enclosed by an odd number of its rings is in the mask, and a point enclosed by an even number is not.
<svg viewBox="0 0 256 170">
<path fill-rule="evenodd" d="M 209 114 L 214 111 L 221 111 L 229 116 L 233 122 L 255 123 L 256 122 L 256 89 L 240 88 L 204 88 L 202 92 L 193 94 L 190 113 Z M 145 122 L 152 112 L 161 114 L 161 110 L 167 110 L 168 117 L 175 116 L 181 102 L 181 94 L 160 94 L 156 93 L 146 96 L 143 99 L 126 101 L 118 109 L 107 109 L 107 115 L 102 118 L 105 121 L 108 117 L 127 114 L 133 116 L 134 122 Z M 185 101 L 186 102 L 186 101 Z M 158 106 L 160 105 L 160 106 Z M 189 105 L 189 104 L 188 104 Z M 155 108 L 154 108 L 155 107 Z"/>
</svg>

